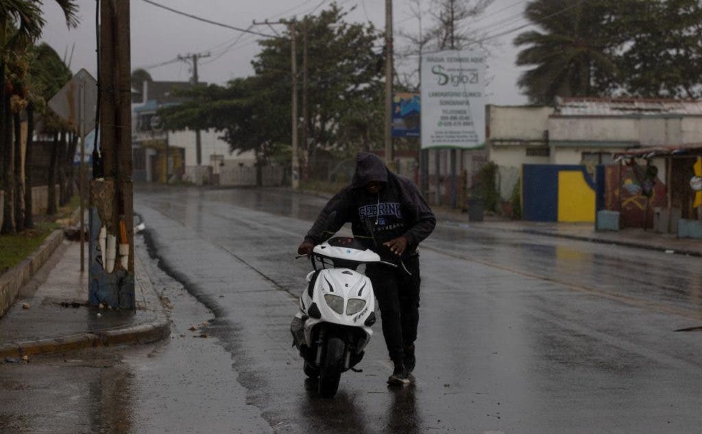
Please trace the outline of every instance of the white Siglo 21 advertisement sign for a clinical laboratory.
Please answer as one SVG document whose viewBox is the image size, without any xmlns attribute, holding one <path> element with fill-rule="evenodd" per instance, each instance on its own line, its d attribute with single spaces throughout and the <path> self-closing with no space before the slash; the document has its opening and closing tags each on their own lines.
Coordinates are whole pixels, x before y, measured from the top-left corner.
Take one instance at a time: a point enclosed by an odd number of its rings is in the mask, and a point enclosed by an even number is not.
<svg viewBox="0 0 702 434">
<path fill-rule="evenodd" d="M 485 144 L 486 57 L 479 50 L 422 55 L 422 149 Z"/>
</svg>

